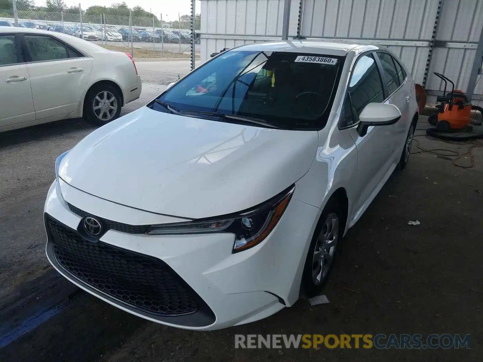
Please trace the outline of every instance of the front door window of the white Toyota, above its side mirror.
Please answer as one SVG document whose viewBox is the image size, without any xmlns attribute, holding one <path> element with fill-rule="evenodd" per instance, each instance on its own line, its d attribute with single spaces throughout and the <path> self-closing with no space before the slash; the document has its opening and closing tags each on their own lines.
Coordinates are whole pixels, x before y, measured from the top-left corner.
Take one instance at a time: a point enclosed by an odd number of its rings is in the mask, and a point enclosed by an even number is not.
<svg viewBox="0 0 483 362">
<path fill-rule="evenodd" d="M 369 103 L 384 102 L 384 90 L 376 61 L 372 54 L 361 56 L 352 71 L 349 84 L 352 108 L 358 117 Z"/>
</svg>

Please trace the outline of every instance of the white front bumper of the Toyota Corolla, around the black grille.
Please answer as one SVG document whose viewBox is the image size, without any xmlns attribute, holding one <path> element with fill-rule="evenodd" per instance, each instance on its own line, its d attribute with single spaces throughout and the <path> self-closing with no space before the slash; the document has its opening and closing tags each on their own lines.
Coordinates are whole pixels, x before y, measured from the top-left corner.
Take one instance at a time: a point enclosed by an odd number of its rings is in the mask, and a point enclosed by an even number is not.
<svg viewBox="0 0 483 362">
<path fill-rule="evenodd" d="M 234 242 L 232 234 L 151 236 L 125 233 L 118 231 L 118 228 L 116 230 L 115 227 L 107 230 L 98 241 L 104 251 L 131 253 L 134 259 L 144 258 L 154 261 L 156 265 L 161 265 L 168 270 L 197 302 L 196 311 L 188 310 L 185 314 L 166 315 L 166 313 L 156 313 L 159 312 L 157 309 L 153 313 L 137 305 L 134 300 L 136 298 L 130 298 L 130 301 L 128 298 L 127 303 L 125 298 L 119 296 L 123 293 L 109 292 L 113 289 L 122 289 L 118 281 L 120 277 L 116 276 L 122 274 L 121 279 L 126 280 L 134 274 L 143 276 L 143 271 L 138 270 L 136 273 L 128 274 L 115 272 L 113 275 L 116 278 L 109 281 L 113 285 L 108 287 L 106 284 L 109 283 L 96 279 L 96 276 L 89 274 L 83 278 L 82 275 L 76 274 L 79 271 L 79 265 L 69 264 L 69 260 L 66 264 L 65 260 L 60 260 L 62 256 L 58 253 L 56 255 L 55 243 L 58 241 L 55 240 L 53 228 L 49 223 L 58 223 L 59 227 L 71 233 L 77 233 L 72 238 L 82 239 L 82 231 L 79 231 L 81 230 L 79 228 L 83 218 L 78 215 L 77 208 L 118 223 L 126 223 L 130 219 L 135 225 L 149 224 L 155 223 L 156 218 L 160 218 L 158 222 L 175 221 L 164 220 L 163 218 L 166 218 L 164 216 L 101 200 L 74 189 L 63 181 L 60 182 L 62 193 L 60 187 L 57 187 L 57 181 L 54 181 L 45 203 L 47 257 L 65 278 L 118 308 L 144 319 L 170 326 L 213 330 L 268 317 L 298 299 L 305 255 L 313 232 L 312 224 L 320 211 L 313 206 L 292 199 L 281 221 L 269 237 L 256 247 L 235 254 L 231 252 Z M 67 203 L 75 204 L 76 208 L 73 209 L 75 212 L 71 211 Z M 89 243 L 83 240 L 81 242 Z M 70 246 L 67 248 L 71 250 Z M 97 258 L 97 256 L 87 256 L 83 263 L 88 266 Z M 133 258 L 116 257 L 114 259 L 119 263 L 126 263 Z M 82 255 L 78 255 L 75 260 L 79 263 Z M 109 263 L 103 260 L 99 265 L 112 264 Z M 75 269 L 76 267 L 78 269 Z M 161 274 L 153 274 L 150 271 L 146 273 L 146 275 L 155 275 L 150 280 L 160 280 L 160 284 L 164 285 L 165 279 Z M 142 277 L 142 280 L 148 279 Z M 100 284 L 103 286 L 99 287 Z M 157 282 L 156 285 L 151 286 L 157 288 Z M 186 300 L 184 297 L 178 299 Z M 173 297 L 170 300 L 173 300 Z"/>
</svg>

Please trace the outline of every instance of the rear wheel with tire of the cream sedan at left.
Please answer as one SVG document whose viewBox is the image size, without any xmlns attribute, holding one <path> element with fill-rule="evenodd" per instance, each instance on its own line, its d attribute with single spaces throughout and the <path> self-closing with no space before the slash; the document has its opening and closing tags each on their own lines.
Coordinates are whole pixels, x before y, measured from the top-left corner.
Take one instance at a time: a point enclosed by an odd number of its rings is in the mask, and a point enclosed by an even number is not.
<svg viewBox="0 0 483 362">
<path fill-rule="evenodd" d="M 106 95 L 107 102 L 104 102 Z M 93 125 L 105 125 L 119 117 L 121 108 L 119 91 L 112 85 L 100 83 L 89 89 L 85 96 L 84 119 Z"/>
</svg>

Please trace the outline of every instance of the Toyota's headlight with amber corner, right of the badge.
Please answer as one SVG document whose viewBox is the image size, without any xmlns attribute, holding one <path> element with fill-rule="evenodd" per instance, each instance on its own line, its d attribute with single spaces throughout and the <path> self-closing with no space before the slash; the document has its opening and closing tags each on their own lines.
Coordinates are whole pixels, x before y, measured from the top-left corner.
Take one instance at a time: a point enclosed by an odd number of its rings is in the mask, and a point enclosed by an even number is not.
<svg viewBox="0 0 483 362">
<path fill-rule="evenodd" d="M 235 234 L 233 252 L 246 250 L 261 243 L 270 234 L 282 218 L 294 189 L 292 185 L 263 204 L 246 211 L 189 223 L 152 225 L 146 234 L 233 233 Z"/>
</svg>

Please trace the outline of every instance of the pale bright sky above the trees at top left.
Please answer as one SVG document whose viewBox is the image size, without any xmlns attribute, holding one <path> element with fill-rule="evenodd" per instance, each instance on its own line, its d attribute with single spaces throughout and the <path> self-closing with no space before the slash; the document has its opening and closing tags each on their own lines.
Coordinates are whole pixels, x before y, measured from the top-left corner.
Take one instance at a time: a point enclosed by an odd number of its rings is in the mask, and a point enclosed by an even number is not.
<svg viewBox="0 0 483 362">
<path fill-rule="evenodd" d="M 89 6 L 100 5 L 109 6 L 113 3 L 123 2 L 123 0 L 64 0 L 67 6 L 78 6 L 79 2 L 83 9 Z M 146 11 L 151 11 L 158 18 L 161 12 L 163 13 L 163 20 L 173 21 L 178 20 L 178 12 L 180 15 L 190 14 L 191 0 L 124 0 L 128 7 L 133 8 L 136 5 L 141 6 Z M 43 5 L 44 0 L 35 0 L 37 6 Z M 199 14 L 201 10 L 201 1 L 196 1 L 196 13 Z"/>
</svg>

